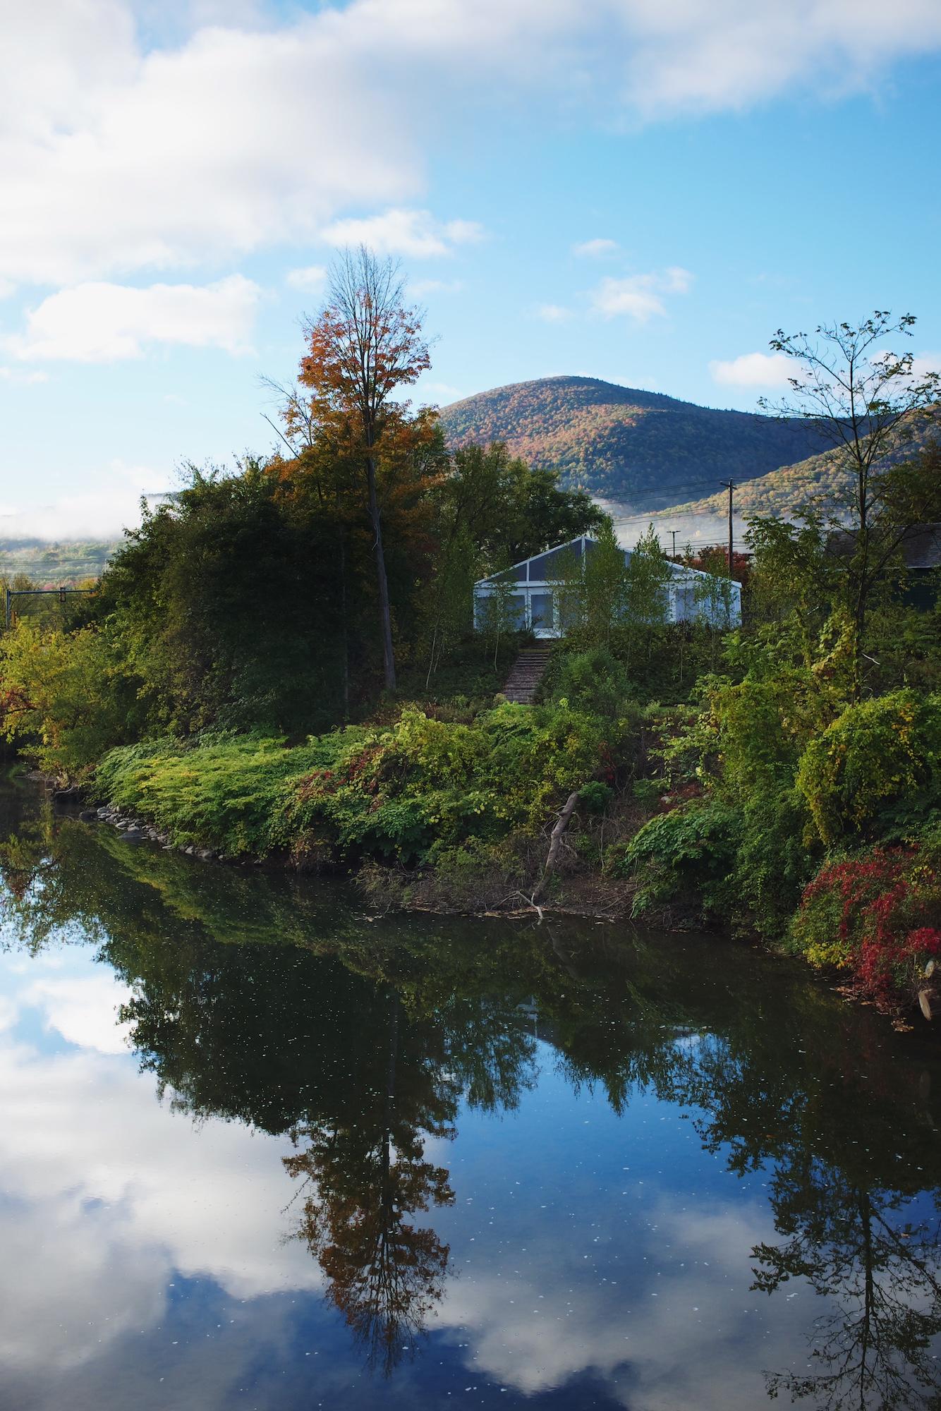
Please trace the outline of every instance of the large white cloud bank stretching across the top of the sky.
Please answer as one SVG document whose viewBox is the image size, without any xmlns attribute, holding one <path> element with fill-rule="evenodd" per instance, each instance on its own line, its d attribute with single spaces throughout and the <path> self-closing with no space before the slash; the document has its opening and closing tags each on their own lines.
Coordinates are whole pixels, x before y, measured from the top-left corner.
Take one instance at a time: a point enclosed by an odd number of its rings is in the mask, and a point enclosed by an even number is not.
<svg viewBox="0 0 941 1411">
<path fill-rule="evenodd" d="M 196 0 L 150 47 L 130 0 L 4 10 L 0 278 L 58 285 L 309 240 L 364 192 L 413 200 L 429 145 L 484 99 L 508 123 L 521 96 L 528 121 L 560 100 L 591 120 L 739 110 L 859 90 L 941 45 L 937 0 L 350 0 L 288 20 Z"/>
</svg>

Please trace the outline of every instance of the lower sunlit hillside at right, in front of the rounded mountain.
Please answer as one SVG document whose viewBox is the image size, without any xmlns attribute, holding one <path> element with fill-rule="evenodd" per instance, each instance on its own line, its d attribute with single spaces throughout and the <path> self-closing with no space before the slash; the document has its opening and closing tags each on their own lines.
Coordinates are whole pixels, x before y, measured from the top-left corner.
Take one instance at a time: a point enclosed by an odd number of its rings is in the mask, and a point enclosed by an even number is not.
<svg viewBox="0 0 941 1411">
<path fill-rule="evenodd" d="M 892 449 L 880 464 L 892 466 L 916 456 L 928 442 L 940 437 L 941 406 L 935 406 L 928 416 L 918 415 L 900 425 L 897 435 L 893 436 Z M 735 515 L 741 519 L 749 519 L 752 515 L 790 519 L 806 504 L 835 507 L 852 492 L 852 473 L 845 468 L 839 452 L 830 449 L 739 485 L 735 490 Z M 717 495 L 672 505 L 667 514 L 674 518 L 711 519 L 725 515 L 727 505 L 725 491 L 720 491 Z"/>
</svg>

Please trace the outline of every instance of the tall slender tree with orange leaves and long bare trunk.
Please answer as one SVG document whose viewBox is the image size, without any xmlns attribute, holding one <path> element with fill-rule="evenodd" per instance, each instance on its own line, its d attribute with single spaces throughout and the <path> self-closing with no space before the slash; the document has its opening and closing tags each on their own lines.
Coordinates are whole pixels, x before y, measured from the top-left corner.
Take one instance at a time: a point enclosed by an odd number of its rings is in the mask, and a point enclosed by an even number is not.
<svg viewBox="0 0 941 1411">
<path fill-rule="evenodd" d="M 327 299 L 305 327 L 308 353 L 300 382 L 310 388 L 320 425 L 351 439 L 361 466 L 361 485 L 372 531 L 380 600 L 385 686 L 395 689 L 395 652 L 389 587 L 382 547 L 382 507 L 377 468 L 384 437 L 395 436 L 405 405 L 394 399 L 430 367 L 427 343 L 416 309 L 406 308 L 399 265 L 378 260 L 360 246 L 346 251 L 330 271 Z"/>
</svg>

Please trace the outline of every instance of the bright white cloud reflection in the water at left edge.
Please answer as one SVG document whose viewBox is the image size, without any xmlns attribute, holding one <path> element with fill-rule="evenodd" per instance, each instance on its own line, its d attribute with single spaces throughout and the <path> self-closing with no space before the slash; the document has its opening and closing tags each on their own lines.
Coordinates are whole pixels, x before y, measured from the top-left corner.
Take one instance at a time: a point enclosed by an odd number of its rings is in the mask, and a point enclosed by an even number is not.
<svg viewBox="0 0 941 1411">
<path fill-rule="evenodd" d="M 75 996 L 93 982 L 73 968 L 72 1019 Z M 65 1013 L 65 982 L 55 992 L 51 981 L 27 985 L 18 1002 L 40 991 L 52 1024 Z M 217 1119 L 198 1126 L 158 1103 L 152 1075 L 130 1054 L 103 1051 L 107 1036 L 89 1024 L 97 1007 L 80 1006 L 83 1050 L 41 1057 L 0 1046 L 0 1353 L 20 1367 L 78 1366 L 100 1356 L 102 1340 L 152 1326 L 174 1268 L 209 1276 L 236 1298 L 323 1281 L 299 1242 L 284 1243 L 292 1192 L 281 1157 L 291 1143 Z"/>
</svg>

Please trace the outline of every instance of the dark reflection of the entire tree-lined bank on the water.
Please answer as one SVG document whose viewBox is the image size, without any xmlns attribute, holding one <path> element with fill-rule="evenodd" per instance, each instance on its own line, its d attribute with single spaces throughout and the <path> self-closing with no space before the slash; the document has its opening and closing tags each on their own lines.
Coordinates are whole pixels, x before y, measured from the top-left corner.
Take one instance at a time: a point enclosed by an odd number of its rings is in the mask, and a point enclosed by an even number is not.
<svg viewBox="0 0 941 1411">
<path fill-rule="evenodd" d="M 433 1212 L 453 1201 L 442 1143 L 459 1106 L 512 1108 L 538 1031 L 573 1085 L 618 1112 L 653 1091 L 731 1170 L 767 1173 L 779 1239 L 755 1249 L 755 1285 L 800 1278 L 827 1297 L 813 1366 L 772 1370 L 770 1395 L 940 1404 L 937 1126 L 918 1065 L 886 1061 L 878 1016 L 746 950 L 724 948 L 720 972 L 703 943 L 595 927 L 367 923 L 323 886 L 76 824 L 23 838 L 7 910 L 24 941 L 75 920 L 103 935 L 141 1062 L 172 1101 L 292 1133 L 296 1233 L 375 1366 L 415 1346 L 442 1297 Z"/>
</svg>

